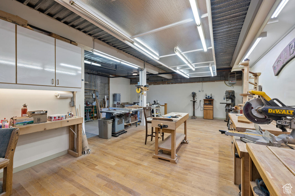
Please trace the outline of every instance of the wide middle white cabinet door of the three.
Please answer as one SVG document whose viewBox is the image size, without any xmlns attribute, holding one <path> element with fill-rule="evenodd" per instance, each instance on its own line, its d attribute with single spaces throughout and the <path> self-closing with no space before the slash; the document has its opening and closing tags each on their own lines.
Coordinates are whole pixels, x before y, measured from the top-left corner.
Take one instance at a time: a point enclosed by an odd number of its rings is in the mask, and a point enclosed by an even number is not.
<svg viewBox="0 0 295 196">
<path fill-rule="evenodd" d="M 55 39 L 17 26 L 17 83 L 55 86 Z"/>
</svg>

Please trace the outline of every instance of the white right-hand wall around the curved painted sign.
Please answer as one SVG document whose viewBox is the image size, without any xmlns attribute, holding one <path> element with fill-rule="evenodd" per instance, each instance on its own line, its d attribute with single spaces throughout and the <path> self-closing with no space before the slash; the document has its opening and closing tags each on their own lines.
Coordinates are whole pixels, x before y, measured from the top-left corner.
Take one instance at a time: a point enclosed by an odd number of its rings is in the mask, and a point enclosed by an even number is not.
<svg viewBox="0 0 295 196">
<path fill-rule="evenodd" d="M 259 85 L 262 85 L 262 91 L 270 98 L 278 98 L 286 105 L 295 105 L 295 59 L 285 65 L 278 76 L 274 76 L 272 66 L 281 51 L 294 37 L 295 29 L 251 68 L 253 72 L 261 72 L 261 76 L 259 76 Z"/>
</svg>

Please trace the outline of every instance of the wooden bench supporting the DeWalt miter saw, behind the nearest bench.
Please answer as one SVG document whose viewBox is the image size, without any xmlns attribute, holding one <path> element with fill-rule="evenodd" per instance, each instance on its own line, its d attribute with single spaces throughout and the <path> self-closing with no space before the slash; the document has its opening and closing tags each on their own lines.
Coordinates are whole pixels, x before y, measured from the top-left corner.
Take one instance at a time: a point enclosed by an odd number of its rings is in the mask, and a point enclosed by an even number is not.
<svg viewBox="0 0 295 196">
<path fill-rule="evenodd" d="M 235 157 L 235 154 L 234 154 L 234 184 L 242 185 L 242 189 L 241 189 L 242 196 L 244 195 L 251 196 L 251 190 L 249 187 L 250 156 L 246 148 L 246 143 L 240 140 L 240 137 L 231 136 L 231 138 L 232 138 L 232 152 L 237 153 L 239 155 L 239 158 L 237 158 Z M 264 146 L 264 145 L 260 145 L 260 146 Z M 295 145 L 290 145 L 290 146 L 295 148 Z M 281 147 L 274 147 L 274 148 L 287 149 L 287 150 L 290 149 L 290 147 L 285 144 L 282 144 Z M 295 160 L 295 157 L 294 157 L 294 160 Z"/>
</svg>

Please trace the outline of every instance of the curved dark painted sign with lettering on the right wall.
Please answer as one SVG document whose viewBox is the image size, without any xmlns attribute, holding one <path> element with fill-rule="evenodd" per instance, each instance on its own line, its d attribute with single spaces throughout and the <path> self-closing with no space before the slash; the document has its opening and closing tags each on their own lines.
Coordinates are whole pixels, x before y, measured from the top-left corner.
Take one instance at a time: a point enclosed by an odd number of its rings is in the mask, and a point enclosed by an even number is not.
<svg viewBox="0 0 295 196">
<path fill-rule="evenodd" d="M 283 49 L 273 64 L 273 73 L 277 76 L 282 68 L 295 57 L 295 38 Z"/>
</svg>

